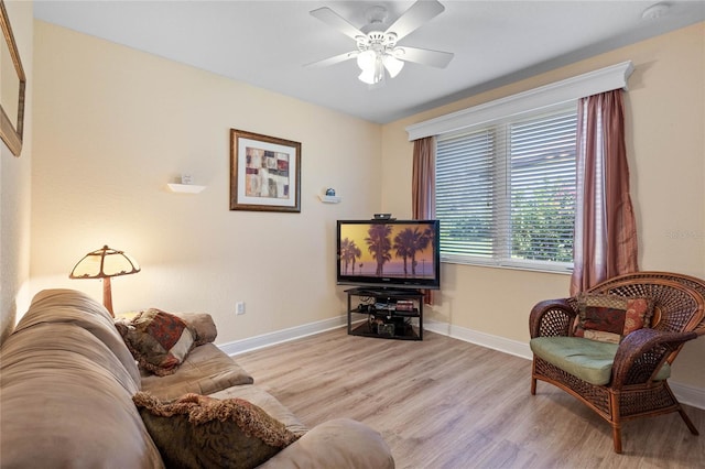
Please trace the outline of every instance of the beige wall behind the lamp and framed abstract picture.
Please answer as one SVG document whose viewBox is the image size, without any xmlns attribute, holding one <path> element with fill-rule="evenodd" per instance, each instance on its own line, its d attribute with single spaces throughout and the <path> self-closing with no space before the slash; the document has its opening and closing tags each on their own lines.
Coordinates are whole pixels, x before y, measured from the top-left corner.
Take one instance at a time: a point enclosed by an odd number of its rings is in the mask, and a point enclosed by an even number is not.
<svg viewBox="0 0 705 469">
<path fill-rule="evenodd" d="M 107 243 L 142 265 L 116 312 L 208 312 L 219 343 L 343 314 L 335 220 L 380 209 L 380 126 L 40 21 L 34 54 L 33 292 L 100 298 L 67 275 Z M 301 214 L 229 210 L 231 128 L 302 143 Z M 181 173 L 207 188 L 167 192 Z"/>
</svg>

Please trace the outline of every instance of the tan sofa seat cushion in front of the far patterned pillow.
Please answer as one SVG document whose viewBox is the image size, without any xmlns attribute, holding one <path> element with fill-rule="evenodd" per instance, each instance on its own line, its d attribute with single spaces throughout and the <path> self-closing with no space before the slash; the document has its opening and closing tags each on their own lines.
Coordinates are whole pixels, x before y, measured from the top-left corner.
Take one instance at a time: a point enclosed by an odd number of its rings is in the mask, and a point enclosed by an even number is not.
<svg viewBox="0 0 705 469">
<path fill-rule="evenodd" d="M 187 393 L 213 394 L 252 382 L 252 377 L 214 343 L 193 349 L 173 374 L 158 377 L 142 372 L 142 391 L 161 400 L 173 400 Z"/>
</svg>

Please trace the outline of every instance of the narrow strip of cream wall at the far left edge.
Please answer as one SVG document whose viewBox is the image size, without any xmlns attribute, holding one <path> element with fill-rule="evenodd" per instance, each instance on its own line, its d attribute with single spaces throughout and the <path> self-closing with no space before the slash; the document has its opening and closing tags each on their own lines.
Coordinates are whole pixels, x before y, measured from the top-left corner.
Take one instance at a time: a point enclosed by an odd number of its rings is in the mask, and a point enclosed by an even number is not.
<svg viewBox="0 0 705 469">
<path fill-rule="evenodd" d="M 17 312 L 26 305 L 30 279 L 30 204 L 32 168 L 32 3 L 6 1 L 26 75 L 24 144 L 20 157 L 0 142 L 0 342 L 12 331 Z"/>
</svg>

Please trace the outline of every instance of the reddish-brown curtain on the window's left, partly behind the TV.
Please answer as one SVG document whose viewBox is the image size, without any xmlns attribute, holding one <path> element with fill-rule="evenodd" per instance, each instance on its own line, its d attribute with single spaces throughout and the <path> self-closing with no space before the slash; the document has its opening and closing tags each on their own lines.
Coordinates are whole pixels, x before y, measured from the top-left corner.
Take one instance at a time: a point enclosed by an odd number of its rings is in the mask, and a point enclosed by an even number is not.
<svg viewBox="0 0 705 469">
<path fill-rule="evenodd" d="M 433 220 L 436 216 L 436 138 L 414 140 L 411 175 L 412 216 L 414 220 Z M 433 291 L 424 291 L 424 303 L 433 305 Z"/>
</svg>

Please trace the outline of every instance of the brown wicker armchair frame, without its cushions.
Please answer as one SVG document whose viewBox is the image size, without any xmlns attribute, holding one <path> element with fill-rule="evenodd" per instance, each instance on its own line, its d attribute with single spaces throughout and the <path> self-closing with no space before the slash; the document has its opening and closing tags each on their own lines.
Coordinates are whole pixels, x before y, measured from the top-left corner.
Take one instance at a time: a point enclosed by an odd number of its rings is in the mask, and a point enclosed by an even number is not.
<svg viewBox="0 0 705 469">
<path fill-rule="evenodd" d="M 611 378 L 605 385 L 578 379 L 538 357 L 534 350 L 531 394 L 535 395 L 536 380 L 541 380 L 577 397 L 611 424 L 616 452 L 621 452 L 622 422 L 637 417 L 677 412 L 691 433 L 697 435 L 666 380 L 655 378 L 665 363 L 670 367 L 684 342 L 705 335 L 705 281 L 668 272 L 637 272 L 603 282 L 589 293 L 653 298 L 651 328 L 623 338 L 614 358 Z M 530 316 L 532 340 L 573 336 L 577 315 L 576 298 L 536 304 Z"/>
</svg>

